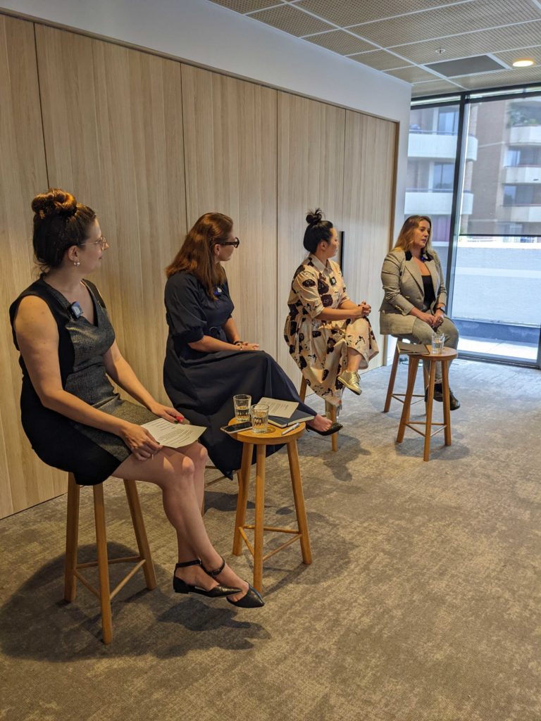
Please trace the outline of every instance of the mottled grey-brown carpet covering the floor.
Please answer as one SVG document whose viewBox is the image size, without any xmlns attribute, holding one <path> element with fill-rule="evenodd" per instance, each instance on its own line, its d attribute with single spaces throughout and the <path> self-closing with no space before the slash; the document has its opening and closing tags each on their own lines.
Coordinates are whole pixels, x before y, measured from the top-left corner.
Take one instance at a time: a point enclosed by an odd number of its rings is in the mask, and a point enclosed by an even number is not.
<svg viewBox="0 0 541 721">
<path fill-rule="evenodd" d="M 96 599 L 61 601 L 65 497 L 1 521 L 0 719 L 540 721 L 541 373 L 455 363 L 453 443 L 437 435 L 429 463 L 413 432 L 395 445 L 388 375 L 346 395 L 337 454 L 299 442 L 314 562 L 298 543 L 269 559 L 263 609 L 172 593 L 174 535 L 140 484 L 159 587 L 128 583 L 105 647 Z M 284 451 L 267 472 L 265 521 L 292 523 Z M 250 578 L 234 490 L 211 487 L 206 523 Z M 120 482 L 106 511 L 110 553 L 133 549 Z M 84 490 L 80 559 L 93 533 Z"/>
</svg>

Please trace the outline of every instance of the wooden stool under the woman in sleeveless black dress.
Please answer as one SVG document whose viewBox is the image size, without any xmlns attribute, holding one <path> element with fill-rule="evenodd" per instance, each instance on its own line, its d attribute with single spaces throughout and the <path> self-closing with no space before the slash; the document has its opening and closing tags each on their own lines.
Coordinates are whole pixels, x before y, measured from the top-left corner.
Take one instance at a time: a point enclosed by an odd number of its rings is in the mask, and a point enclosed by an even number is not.
<svg viewBox="0 0 541 721">
<path fill-rule="evenodd" d="M 103 503 L 103 484 L 98 483 L 92 486 L 94 492 L 94 519 L 96 523 L 96 547 L 97 560 L 89 563 L 77 563 L 77 548 L 79 545 L 79 495 L 81 487 L 76 484 L 73 474 L 68 474 L 68 517 L 66 523 L 66 562 L 64 566 L 64 598 L 66 601 L 75 601 L 77 579 L 100 599 L 102 609 L 102 633 L 103 642 L 110 643 L 113 639 L 113 620 L 111 617 L 111 599 L 116 596 L 121 588 L 124 588 L 128 580 L 142 567 L 146 588 L 156 588 L 156 575 L 152 564 L 149 541 L 146 539 L 146 531 L 141 513 L 141 504 L 135 481 L 124 481 L 128 506 L 135 531 L 138 556 L 125 558 L 107 557 L 107 537 L 105 535 L 105 506 Z M 110 590 L 109 586 L 109 564 L 110 563 L 134 563 L 133 568 L 126 574 L 120 583 Z M 84 578 L 80 569 L 97 566 L 100 578 L 100 588 L 94 588 Z"/>
</svg>

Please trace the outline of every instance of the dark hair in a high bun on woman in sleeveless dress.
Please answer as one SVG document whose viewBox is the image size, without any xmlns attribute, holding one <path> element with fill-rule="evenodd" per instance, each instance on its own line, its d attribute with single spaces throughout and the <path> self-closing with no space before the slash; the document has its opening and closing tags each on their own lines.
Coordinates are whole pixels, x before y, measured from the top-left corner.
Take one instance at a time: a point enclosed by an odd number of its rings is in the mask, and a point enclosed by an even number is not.
<svg viewBox="0 0 541 721">
<path fill-rule="evenodd" d="M 89 236 L 96 213 L 77 203 L 71 193 L 51 187 L 32 200 L 35 260 L 43 273 L 61 265 L 66 250 L 81 245 Z"/>
</svg>

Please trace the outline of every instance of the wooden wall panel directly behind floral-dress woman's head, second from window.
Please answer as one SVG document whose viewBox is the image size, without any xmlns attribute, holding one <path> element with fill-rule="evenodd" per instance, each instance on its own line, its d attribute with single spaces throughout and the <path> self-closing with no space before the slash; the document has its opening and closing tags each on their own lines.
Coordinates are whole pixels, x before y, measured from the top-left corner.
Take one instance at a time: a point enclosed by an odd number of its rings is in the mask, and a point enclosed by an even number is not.
<svg viewBox="0 0 541 721">
<path fill-rule="evenodd" d="M 345 128 L 342 108 L 278 93 L 278 362 L 297 388 L 302 376 L 283 340 L 287 298 L 308 255 L 302 244 L 307 211 L 322 208 L 341 229 Z"/>
</svg>

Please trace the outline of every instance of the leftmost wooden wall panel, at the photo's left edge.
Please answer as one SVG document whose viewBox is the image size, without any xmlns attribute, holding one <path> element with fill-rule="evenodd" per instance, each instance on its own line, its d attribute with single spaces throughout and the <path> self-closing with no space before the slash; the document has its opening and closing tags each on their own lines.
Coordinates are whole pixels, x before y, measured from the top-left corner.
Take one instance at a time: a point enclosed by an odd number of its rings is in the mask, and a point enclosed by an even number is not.
<svg viewBox="0 0 541 721">
<path fill-rule="evenodd" d="M 0 517 L 66 490 L 66 476 L 45 466 L 30 448 L 20 423 L 21 370 L 7 309 L 35 280 L 32 211 L 46 187 L 45 151 L 32 23 L 0 15 L 0 252 L 4 273 L 0 364 Z"/>
</svg>

